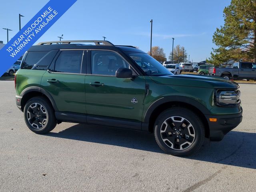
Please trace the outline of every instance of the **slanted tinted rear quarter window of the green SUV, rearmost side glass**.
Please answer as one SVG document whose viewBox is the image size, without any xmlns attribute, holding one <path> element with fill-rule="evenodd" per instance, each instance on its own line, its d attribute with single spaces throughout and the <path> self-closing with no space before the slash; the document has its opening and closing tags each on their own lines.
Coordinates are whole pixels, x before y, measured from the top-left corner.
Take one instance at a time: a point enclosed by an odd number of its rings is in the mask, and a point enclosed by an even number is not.
<svg viewBox="0 0 256 192">
<path fill-rule="evenodd" d="M 31 69 L 43 56 L 45 56 L 47 51 L 30 51 L 28 52 L 25 61 L 20 66 L 21 69 Z"/>
</svg>

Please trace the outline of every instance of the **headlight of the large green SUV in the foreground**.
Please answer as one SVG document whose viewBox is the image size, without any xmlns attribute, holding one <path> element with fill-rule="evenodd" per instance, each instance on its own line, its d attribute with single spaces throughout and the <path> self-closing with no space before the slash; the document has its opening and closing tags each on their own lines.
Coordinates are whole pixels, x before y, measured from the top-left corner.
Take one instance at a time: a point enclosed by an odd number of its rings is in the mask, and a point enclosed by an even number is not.
<svg viewBox="0 0 256 192">
<path fill-rule="evenodd" d="M 216 102 L 220 106 L 237 106 L 240 104 L 239 90 L 217 90 Z"/>
</svg>

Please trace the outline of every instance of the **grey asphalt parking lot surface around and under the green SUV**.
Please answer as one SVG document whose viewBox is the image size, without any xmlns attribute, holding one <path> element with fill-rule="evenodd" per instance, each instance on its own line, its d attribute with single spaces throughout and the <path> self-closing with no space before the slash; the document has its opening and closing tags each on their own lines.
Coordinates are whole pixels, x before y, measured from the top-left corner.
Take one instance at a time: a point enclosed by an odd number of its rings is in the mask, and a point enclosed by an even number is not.
<svg viewBox="0 0 256 192">
<path fill-rule="evenodd" d="M 255 191 L 256 85 L 240 84 L 242 123 L 221 142 L 175 157 L 153 134 L 62 123 L 31 132 L 15 104 L 13 81 L 0 81 L 0 191 Z"/>
</svg>

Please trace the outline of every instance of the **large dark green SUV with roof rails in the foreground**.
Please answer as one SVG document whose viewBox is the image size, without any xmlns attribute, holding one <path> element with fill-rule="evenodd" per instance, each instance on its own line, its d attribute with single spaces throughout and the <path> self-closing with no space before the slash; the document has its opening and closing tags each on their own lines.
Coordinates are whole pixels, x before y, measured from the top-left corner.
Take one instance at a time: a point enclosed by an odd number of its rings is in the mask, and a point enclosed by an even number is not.
<svg viewBox="0 0 256 192">
<path fill-rule="evenodd" d="M 37 134 L 61 122 L 154 132 L 160 148 L 176 156 L 196 152 L 205 138 L 222 140 L 242 121 L 235 82 L 173 75 L 145 52 L 108 41 L 32 46 L 15 87 L 16 104 Z"/>
</svg>

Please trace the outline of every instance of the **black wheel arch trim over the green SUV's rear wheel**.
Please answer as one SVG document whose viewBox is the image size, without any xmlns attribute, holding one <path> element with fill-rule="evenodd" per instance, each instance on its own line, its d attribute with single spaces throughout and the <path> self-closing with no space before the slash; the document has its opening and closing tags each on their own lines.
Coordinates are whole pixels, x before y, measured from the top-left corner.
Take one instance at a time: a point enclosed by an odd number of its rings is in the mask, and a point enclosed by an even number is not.
<svg viewBox="0 0 256 192">
<path fill-rule="evenodd" d="M 46 90 L 43 90 L 40 87 L 31 86 L 31 87 L 25 88 L 21 92 L 20 96 L 22 96 L 22 99 L 20 102 L 22 111 L 24 110 L 24 106 L 26 105 L 26 102 L 28 102 L 28 100 L 30 100 L 32 97 L 35 97 L 35 96 L 43 96 L 52 104 L 54 111 L 58 111 L 56 103 L 54 102 L 54 99 L 52 98 L 50 93 L 48 93 Z"/>
</svg>

